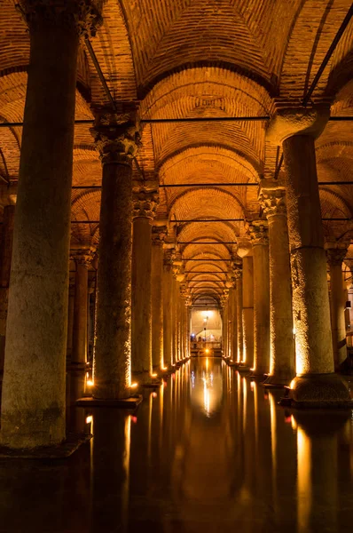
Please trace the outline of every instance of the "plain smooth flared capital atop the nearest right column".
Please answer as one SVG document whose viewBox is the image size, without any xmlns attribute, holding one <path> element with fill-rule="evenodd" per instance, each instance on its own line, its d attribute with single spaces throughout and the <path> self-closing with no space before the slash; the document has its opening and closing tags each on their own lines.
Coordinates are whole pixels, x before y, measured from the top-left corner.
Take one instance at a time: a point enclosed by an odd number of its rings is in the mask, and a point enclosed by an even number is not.
<svg viewBox="0 0 353 533">
<path fill-rule="evenodd" d="M 266 138 L 277 145 L 294 135 L 307 135 L 317 139 L 325 130 L 329 117 L 328 104 L 279 107 L 269 123 Z"/>
</svg>

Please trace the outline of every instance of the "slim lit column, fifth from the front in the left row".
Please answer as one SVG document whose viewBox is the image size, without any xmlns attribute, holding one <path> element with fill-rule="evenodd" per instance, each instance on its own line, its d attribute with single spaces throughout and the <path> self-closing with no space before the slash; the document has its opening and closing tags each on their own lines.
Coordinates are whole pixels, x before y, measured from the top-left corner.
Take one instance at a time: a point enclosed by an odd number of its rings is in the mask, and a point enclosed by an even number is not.
<svg viewBox="0 0 353 533">
<path fill-rule="evenodd" d="M 172 339 L 172 298 L 173 298 L 173 264 L 171 251 L 164 251 L 163 261 L 163 362 L 164 369 L 170 369 L 173 353 Z"/>
</svg>

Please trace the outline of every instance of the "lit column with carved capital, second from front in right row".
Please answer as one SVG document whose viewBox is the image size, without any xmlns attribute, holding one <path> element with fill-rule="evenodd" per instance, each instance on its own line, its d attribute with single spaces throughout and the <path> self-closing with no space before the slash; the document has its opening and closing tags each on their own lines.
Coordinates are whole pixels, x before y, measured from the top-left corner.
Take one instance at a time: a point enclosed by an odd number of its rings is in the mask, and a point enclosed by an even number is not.
<svg viewBox="0 0 353 533">
<path fill-rule="evenodd" d="M 260 187 L 259 200 L 269 223 L 270 249 L 271 362 L 265 383 L 289 385 L 295 375 L 295 355 L 286 190 L 278 180 L 270 179 L 263 179 Z"/>
</svg>

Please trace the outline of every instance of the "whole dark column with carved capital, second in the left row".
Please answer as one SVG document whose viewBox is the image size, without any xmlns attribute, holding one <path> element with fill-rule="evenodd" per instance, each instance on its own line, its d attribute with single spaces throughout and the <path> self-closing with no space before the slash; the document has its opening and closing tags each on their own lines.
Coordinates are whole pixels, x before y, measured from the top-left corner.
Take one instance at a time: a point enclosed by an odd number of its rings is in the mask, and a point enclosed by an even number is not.
<svg viewBox="0 0 353 533">
<path fill-rule="evenodd" d="M 92 134 L 103 164 L 99 221 L 93 396 L 128 398 L 131 384 L 132 159 L 137 154 L 134 107 L 98 110 Z"/>
</svg>

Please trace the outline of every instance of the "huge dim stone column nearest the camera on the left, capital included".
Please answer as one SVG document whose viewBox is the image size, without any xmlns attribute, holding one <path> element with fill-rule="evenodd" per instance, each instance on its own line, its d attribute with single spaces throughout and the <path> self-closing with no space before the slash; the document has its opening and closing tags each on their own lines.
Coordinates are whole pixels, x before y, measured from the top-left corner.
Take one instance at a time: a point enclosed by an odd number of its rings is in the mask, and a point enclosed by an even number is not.
<svg viewBox="0 0 353 533">
<path fill-rule="evenodd" d="M 93 2 L 22 0 L 30 60 L 13 231 L 1 442 L 65 438 L 65 362 L 77 51 Z M 20 386 L 19 386 L 20 384 Z"/>
</svg>

